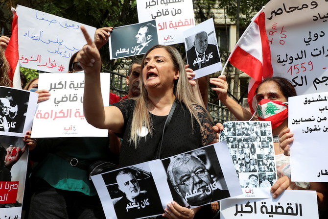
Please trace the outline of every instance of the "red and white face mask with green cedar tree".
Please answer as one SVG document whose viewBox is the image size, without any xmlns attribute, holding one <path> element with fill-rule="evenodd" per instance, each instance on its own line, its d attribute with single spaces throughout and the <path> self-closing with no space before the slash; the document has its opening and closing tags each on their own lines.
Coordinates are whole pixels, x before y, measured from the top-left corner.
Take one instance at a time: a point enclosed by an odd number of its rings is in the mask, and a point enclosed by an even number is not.
<svg viewBox="0 0 328 219">
<path fill-rule="evenodd" d="M 277 128 L 288 117 L 288 102 L 261 99 L 256 108 L 259 121 L 271 121 L 272 128 Z"/>
</svg>

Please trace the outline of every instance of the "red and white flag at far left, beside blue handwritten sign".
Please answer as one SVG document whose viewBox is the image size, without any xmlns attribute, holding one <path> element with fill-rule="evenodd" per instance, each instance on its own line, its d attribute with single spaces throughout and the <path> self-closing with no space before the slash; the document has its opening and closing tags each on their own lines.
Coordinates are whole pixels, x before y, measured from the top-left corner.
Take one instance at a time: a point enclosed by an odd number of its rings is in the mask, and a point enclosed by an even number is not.
<svg viewBox="0 0 328 219">
<path fill-rule="evenodd" d="M 19 64 L 19 53 L 18 53 L 18 16 L 16 10 L 11 8 L 14 18 L 11 26 L 11 37 L 5 51 L 6 59 L 9 62 L 9 78 L 12 81 L 12 87 L 22 89 L 21 85 L 21 73 L 20 73 L 20 64 Z"/>
</svg>

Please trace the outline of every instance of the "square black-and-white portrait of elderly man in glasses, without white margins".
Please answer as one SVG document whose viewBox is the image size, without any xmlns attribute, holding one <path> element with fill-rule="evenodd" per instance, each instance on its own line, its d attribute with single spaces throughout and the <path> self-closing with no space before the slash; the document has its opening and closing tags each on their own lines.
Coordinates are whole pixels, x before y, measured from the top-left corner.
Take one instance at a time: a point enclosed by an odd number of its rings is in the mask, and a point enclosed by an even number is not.
<svg viewBox="0 0 328 219">
<path fill-rule="evenodd" d="M 173 199 L 179 204 L 202 206 L 230 197 L 214 149 L 206 149 L 163 160 Z"/>
</svg>

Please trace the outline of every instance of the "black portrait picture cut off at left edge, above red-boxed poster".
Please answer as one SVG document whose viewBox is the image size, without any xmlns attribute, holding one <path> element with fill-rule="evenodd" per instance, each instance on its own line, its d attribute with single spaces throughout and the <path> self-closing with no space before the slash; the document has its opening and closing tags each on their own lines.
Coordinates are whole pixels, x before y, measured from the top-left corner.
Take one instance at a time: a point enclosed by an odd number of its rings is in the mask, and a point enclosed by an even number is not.
<svg viewBox="0 0 328 219">
<path fill-rule="evenodd" d="M 29 92 L 0 87 L 0 131 L 22 133 Z"/>
</svg>

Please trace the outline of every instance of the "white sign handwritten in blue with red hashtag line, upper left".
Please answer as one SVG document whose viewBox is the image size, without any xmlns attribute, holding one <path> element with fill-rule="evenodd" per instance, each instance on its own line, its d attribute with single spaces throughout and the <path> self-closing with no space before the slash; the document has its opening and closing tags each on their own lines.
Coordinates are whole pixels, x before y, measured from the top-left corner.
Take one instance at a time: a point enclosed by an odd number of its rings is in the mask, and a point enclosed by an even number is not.
<svg viewBox="0 0 328 219">
<path fill-rule="evenodd" d="M 22 67 L 67 73 L 72 54 L 86 44 L 82 24 L 17 5 L 18 43 Z M 95 27 L 83 24 L 90 36 Z"/>
</svg>

